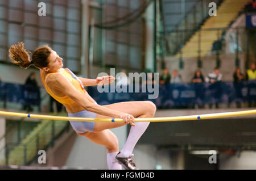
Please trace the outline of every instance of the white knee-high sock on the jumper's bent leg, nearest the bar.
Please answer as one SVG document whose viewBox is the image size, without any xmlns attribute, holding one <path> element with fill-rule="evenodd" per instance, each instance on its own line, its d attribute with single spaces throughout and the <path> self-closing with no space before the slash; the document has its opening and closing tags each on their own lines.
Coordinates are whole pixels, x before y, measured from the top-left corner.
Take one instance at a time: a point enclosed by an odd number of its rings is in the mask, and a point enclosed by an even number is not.
<svg viewBox="0 0 256 181">
<path fill-rule="evenodd" d="M 129 157 L 133 153 L 135 145 L 146 131 L 150 122 L 135 122 L 134 124 L 135 127 L 131 127 L 125 146 L 123 146 L 123 149 L 119 154 L 120 157 Z"/>
</svg>

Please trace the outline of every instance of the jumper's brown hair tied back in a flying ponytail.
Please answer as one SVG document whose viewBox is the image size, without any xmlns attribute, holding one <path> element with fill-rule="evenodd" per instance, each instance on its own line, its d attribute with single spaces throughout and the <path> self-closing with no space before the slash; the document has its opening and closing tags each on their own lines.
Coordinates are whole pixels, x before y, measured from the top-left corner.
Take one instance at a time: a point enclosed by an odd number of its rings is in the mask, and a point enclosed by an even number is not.
<svg viewBox="0 0 256 181">
<path fill-rule="evenodd" d="M 30 53 L 28 52 L 23 42 L 12 45 L 9 49 L 9 57 L 11 62 L 18 65 L 20 68 L 27 69 L 30 65 L 34 64 L 36 68 L 45 68 L 48 66 L 48 57 L 51 54 L 51 48 L 48 45 L 37 48 L 32 53 L 32 60 L 30 60 Z"/>
</svg>

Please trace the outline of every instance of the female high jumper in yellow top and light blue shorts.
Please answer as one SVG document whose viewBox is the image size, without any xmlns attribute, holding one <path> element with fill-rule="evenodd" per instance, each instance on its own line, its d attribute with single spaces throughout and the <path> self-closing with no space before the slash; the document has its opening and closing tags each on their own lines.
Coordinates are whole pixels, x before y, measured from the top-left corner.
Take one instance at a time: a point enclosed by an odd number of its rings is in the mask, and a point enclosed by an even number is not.
<svg viewBox="0 0 256 181">
<path fill-rule="evenodd" d="M 154 117 L 156 106 L 150 101 L 120 102 L 106 106 L 98 105 L 84 89 L 84 86 L 106 85 L 114 81 L 113 76 L 87 79 L 76 77 L 69 69 L 63 69 L 63 58 L 57 52 L 44 45 L 32 53 L 24 48 L 24 43 L 12 45 L 9 56 L 20 68 L 27 69 L 34 65 L 40 69 L 40 77 L 49 95 L 62 103 L 69 117 L 121 118 L 123 123 L 69 121 L 80 136 L 85 136 L 96 144 L 104 145 L 107 151 L 109 169 L 137 169 L 133 161 L 133 149 L 139 138 L 146 131 L 150 122 L 134 122 L 134 117 Z M 119 151 L 118 139 L 109 129 L 129 124 L 129 136 Z M 119 151 L 119 152 L 118 152 Z"/>
</svg>

